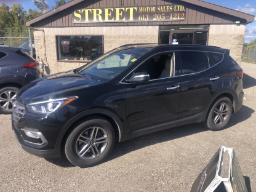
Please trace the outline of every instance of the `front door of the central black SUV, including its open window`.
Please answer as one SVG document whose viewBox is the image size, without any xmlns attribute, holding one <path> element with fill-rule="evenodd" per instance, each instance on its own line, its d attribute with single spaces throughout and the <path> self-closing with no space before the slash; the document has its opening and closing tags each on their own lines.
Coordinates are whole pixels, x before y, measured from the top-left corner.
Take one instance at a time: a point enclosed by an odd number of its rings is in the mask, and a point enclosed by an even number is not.
<svg viewBox="0 0 256 192">
<path fill-rule="evenodd" d="M 132 71 L 145 72 L 149 82 L 126 84 L 127 133 L 142 135 L 177 126 L 180 105 L 180 76 L 177 52 L 154 55 Z M 165 128 L 165 129 L 167 129 Z"/>
</svg>

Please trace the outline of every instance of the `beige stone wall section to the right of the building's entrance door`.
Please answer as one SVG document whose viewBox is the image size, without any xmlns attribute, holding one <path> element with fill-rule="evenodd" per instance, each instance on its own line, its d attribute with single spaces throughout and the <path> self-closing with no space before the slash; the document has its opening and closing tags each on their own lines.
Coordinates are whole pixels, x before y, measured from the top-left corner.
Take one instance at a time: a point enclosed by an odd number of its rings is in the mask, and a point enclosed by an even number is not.
<svg viewBox="0 0 256 192">
<path fill-rule="evenodd" d="M 230 49 L 230 56 L 240 65 L 245 29 L 245 25 L 210 25 L 208 45 Z"/>
</svg>

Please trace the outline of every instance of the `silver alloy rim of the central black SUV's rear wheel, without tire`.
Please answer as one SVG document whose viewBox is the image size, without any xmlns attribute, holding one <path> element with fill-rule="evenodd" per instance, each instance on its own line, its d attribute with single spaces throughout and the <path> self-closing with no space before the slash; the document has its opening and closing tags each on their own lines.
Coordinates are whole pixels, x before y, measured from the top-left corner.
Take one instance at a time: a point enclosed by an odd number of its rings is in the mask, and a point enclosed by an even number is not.
<svg viewBox="0 0 256 192">
<path fill-rule="evenodd" d="M 213 114 L 214 123 L 221 126 L 228 118 L 228 104 L 220 103 L 216 106 Z"/>
</svg>

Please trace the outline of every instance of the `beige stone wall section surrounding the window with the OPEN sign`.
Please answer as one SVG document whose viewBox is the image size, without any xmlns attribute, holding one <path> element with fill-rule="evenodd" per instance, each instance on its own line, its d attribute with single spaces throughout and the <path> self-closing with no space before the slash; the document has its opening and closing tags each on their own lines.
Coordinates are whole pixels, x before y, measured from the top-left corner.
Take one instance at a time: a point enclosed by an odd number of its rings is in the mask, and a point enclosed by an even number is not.
<svg viewBox="0 0 256 192">
<path fill-rule="evenodd" d="M 42 71 L 44 75 L 67 71 L 85 63 L 57 62 L 57 50 L 55 35 L 103 35 L 104 52 L 132 43 L 158 43 L 158 26 L 100 26 L 100 27 L 68 27 L 68 28 L 43 28 L 34 30 L 34 44 L 36 57 L 43 56 L 43 41 L 46 43 L 46 67 Z"/>
</svg>

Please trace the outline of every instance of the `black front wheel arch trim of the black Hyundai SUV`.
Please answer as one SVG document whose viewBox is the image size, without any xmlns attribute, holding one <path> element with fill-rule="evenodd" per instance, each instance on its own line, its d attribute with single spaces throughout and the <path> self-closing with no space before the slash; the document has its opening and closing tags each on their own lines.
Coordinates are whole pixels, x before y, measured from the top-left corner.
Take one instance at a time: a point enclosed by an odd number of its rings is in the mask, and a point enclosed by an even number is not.
<svg viewBox="0 0 256 192">
<path fill-rule="evenodd" d="M 114 132 L 116 133 L 116 140 L 118 142 L 122 142 L 127 140 L 126 134 L 124 134 L 124 127 L 122 126 L 121 119 L 118 118 L 116 114 L 111 111 L 104 110 L 104 109 L 92 109 L 87 111 L 82 111 L 79 114 L 76 114 L 73 118 L 68 121 L 63 129 L 60 131 L 60 134 L 57 138 L 56 148 L 60 148 L 62 145 L 63 140 L 65 140 L 66 135 L 69 134 L 70 130 L 73 129 L 76 124 L 84 121 L 87 118 L 93 118 L 97 116 L 102 116 L 103 118 L 107 119 L 114 128 Z"/>
</svg>

